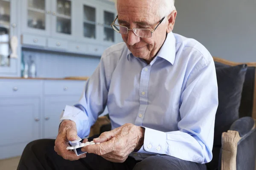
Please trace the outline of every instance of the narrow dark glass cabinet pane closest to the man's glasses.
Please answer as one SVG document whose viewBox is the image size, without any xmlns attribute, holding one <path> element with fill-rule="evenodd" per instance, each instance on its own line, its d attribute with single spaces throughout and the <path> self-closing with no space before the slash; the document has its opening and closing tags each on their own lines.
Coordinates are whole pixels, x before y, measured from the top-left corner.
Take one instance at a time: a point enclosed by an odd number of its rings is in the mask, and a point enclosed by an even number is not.
<svg viewBox="0 0 256 170">
<path fill-rule="evenodd" d="M 114 42 L 115 34 L 111 28 L 111 23 L 115 19 L 114 14 L 104 11 L 104 41 Z"/>
</svg>

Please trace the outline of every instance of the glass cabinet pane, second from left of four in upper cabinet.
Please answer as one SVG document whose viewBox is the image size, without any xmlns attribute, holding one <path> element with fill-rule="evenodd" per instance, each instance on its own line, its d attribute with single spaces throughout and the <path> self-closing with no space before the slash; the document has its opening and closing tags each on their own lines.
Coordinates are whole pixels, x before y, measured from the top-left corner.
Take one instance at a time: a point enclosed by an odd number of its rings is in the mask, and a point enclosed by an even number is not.
<svg viewBox="0 0 256 170">
<path fill-rule="evenodd" d="M 56 31 L 71 34 L 71 1 L 57 0 L 57 25 Z"/>
</svg>

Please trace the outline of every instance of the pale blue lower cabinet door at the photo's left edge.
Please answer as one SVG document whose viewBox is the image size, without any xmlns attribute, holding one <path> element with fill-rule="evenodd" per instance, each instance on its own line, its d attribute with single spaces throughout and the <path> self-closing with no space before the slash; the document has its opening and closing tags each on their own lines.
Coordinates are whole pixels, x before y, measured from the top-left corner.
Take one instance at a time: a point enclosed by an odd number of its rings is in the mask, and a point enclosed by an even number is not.
<svg viewBox="0 0 256 170">
<path fill-rule="evenodd" d="M 27 143 L 40 138 L 39 98 L 0 98 L 0 159 L 21 155 Z"/>
</svg>

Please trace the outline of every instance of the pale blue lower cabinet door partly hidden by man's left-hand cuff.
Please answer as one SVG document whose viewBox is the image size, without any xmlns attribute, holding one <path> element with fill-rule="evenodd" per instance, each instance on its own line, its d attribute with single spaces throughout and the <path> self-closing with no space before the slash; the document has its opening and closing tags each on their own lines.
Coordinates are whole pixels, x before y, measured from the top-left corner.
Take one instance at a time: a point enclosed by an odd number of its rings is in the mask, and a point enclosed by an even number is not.
<svg viewBox="0 0 256 170">
<path fill-rule="evenodd" d="M 79 102 L 77 96 L 47 96 L 44 98 L 44 124 L 43 138 L 55 139 L 58 135 L 61 112 L 66 105 L 74 105 Z"/>
</svg>

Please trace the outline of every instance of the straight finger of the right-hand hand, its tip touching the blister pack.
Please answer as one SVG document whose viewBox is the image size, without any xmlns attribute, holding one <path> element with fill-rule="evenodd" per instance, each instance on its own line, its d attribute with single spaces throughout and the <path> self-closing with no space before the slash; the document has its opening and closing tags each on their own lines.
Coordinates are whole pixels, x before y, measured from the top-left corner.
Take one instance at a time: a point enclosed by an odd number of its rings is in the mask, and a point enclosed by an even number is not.
<svg viewBox="0 0 256 170">
<path fill-rule="evenodd" d="M 81 150 L 83 152 L 94 153 L 96 155 L 105 155 L 107 153 L 112 152 L 113 148 L 114 148 L 114 144 L 110 140 L 110 141 L 107 141 L 107 142 L 103 142 L 101 144 L 90 144 L 90 145 L 87 145 L 85 147 L 82 147 Z"/>
</svg>

